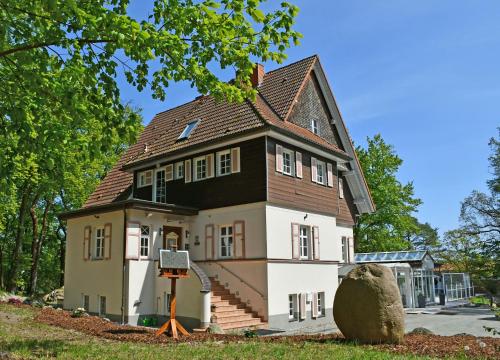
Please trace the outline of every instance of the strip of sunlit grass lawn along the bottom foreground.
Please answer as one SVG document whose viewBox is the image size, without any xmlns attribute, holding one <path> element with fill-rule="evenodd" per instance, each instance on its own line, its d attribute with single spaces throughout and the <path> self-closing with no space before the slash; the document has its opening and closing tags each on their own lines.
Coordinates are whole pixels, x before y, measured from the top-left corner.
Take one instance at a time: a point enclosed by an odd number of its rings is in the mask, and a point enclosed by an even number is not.
<svg viewBox="0 0 500 360">
<path fill-rule="evenodd" d="M 33 320 L 35 311 L 0 304 L 0 357 L 7 352 L 14 359 L 424 359 L 336 343 L 117 342 L 37 323 Z"/>
</svg>

